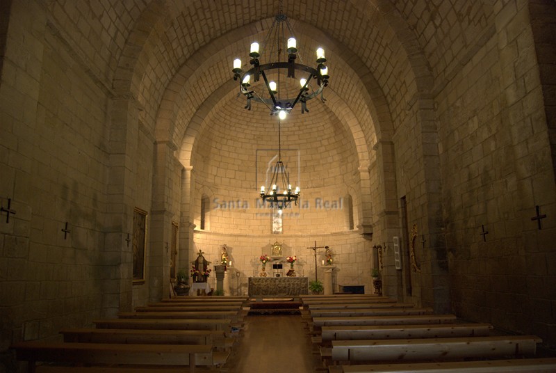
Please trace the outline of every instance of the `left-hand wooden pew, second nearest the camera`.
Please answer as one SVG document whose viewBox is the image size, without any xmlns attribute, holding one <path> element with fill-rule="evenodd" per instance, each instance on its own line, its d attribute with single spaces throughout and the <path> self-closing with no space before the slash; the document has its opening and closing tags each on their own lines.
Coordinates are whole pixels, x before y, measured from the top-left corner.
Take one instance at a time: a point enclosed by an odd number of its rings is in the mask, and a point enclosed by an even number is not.
<svg viewBox="0 0 556 373">
<path fill-rule="evenodd" d="M 137 343 L 137 344 L 208 344 L 229 349 L 234 338 L 226 338 L 224 331 L 170 331 L 140 329 L 62 329 L 64 342 L 80 343 Z"/>
</svg>

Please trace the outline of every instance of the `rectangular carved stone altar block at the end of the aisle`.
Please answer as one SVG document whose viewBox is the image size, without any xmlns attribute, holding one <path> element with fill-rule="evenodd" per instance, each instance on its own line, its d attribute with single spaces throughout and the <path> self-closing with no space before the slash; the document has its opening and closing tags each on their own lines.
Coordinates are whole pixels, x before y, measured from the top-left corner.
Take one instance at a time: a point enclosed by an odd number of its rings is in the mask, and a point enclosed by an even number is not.
<svg viewBox="0 0 556 373">
<path fill-rule="evenodd" d="M 249 296 L 298 296 L 309 294 L 306 277 L 250 277 Z"/>
</svg>

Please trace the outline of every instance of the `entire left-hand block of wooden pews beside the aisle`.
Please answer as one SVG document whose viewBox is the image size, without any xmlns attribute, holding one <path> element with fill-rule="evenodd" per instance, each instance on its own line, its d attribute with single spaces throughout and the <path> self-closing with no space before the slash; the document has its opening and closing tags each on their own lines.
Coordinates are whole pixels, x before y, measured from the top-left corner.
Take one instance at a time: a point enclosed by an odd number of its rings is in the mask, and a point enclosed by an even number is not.
<svg viewBox="0 0 556 373">
<path fill-rule="evenodd" d="M 63 342 L 26 341 L 11 348 L 33 373 L 185 372 L 184 367 L 195 372 L 197 366 L 226 363 L 246 301 L 231 296 L 163 299 L 120 312 L 117 319 L 95 320 L 96 328 L 62 330 Z"/>
</svg>

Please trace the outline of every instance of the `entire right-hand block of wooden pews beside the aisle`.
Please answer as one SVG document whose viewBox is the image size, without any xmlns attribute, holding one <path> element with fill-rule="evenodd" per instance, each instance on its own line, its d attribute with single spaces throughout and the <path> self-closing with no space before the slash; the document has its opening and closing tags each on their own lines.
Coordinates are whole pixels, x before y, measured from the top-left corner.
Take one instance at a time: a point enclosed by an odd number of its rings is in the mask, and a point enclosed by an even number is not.
<svg viewBox="0 0 556 373">
<path fill-rule="evenodd" d="M 304 296 L 302 303 L 330 373 L 556 372 L 556 358 L 532 358 L 541 342 L 535 335 L 491 335 L 490 324 L 372 295 Z"/>
</svg>

